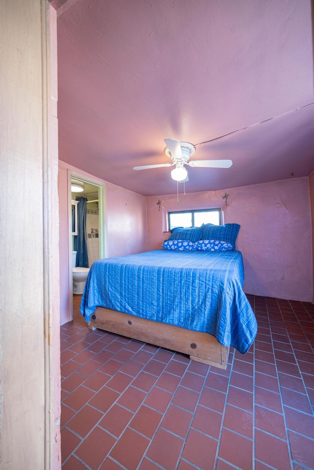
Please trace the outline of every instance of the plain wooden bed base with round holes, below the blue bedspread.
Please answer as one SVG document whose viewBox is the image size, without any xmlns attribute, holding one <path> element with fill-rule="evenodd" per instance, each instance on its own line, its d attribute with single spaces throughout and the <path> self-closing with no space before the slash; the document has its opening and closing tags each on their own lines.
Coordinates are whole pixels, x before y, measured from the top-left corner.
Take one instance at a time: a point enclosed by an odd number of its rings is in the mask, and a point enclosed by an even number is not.
<svg viewBox="0 0 314 470">
<path fill-rule="evenodd" d="M 100 328 L 144 343 L 178 351 L 189 355 L 193 361 L 209 366 L 227 368 L 229 347 L 222 346 L 209 333 L 153 322 L 104 307 L 97 307 L 88 326 L 92 330 Z"/>
</svg>

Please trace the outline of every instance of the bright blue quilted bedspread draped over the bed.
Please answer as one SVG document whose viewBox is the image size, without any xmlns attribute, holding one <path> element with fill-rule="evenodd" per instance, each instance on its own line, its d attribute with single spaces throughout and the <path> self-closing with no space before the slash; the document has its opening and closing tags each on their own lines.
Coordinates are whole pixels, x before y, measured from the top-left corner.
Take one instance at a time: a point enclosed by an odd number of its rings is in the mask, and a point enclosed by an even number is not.
<svg viewBox="0 0 314 470">
<path fill-rule="evenodd" d="M 80 312 L 97 306 L 215 336 L 245 353 L 257 323 L 242 286 L 240 251 L 154 250 L 92 264 Z"/>
</svg>

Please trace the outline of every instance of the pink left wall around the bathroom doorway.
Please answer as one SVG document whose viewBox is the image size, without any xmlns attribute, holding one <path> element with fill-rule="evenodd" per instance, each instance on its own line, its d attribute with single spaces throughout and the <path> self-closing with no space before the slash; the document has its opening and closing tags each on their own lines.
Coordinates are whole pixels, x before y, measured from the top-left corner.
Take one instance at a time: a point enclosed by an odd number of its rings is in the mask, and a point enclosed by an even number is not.
<svg viewBox="0 0 314 470">
<path fill-rule="evenodd" d="M 146 251 L 146 198 L 120 188 L 59 160 L 60 324 L 71 320 L 69 299 L 68 169 L 106 185 L 106 255 L 121 256 Z"/>
</svg>

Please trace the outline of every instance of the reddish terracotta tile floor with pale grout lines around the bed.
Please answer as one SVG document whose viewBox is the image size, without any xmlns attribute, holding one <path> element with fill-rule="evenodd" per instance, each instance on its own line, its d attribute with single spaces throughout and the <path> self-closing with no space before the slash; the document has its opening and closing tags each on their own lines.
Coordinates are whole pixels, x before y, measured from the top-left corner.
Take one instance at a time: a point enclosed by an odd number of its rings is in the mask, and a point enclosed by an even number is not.
<svg viewBox="0 0 314 470">
<path fill-rule="evenodd" d="M 314 469 L 314 305 L 248 296 L 259 330 L 227 371 L 61 327 L 63 470 Z"/>
</svg>

